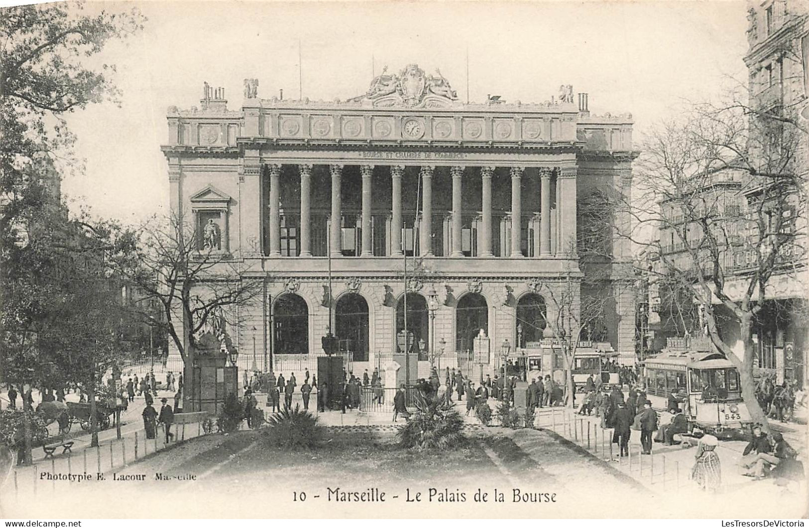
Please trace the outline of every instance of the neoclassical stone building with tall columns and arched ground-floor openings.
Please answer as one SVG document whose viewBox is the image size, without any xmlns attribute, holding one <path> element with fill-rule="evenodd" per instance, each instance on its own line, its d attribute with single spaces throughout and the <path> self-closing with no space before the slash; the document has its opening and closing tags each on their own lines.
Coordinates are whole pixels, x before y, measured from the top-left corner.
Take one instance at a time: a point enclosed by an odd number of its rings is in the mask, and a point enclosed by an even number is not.
<svg viewBox="0 0 809 528">
<path fill-rule="evenodd" d="M 612 258 L 587 266 L 577 251 L 581 204 L 629 194 L 631 115 L 591 115 L 570 86 L 540 104 L 464 104 L 440 73 L 386 71 L 346 101 L 260 99 L 246 79 L 239 110 L 207 84 L 200 109 L 168 110 L 172 213 L 201 240 L 214 224 L 218 249 L 264 286 L 231 332 L 245 364 L 254 351 L 259 368 L 314 364 L 330 327 L 355 372 L 374 368 L 395 351 L 407 290 L 421 360 L 468 363 L 482 329 L 489 371 L 506 339 L 512 355 L 541 350 L 544 317 L 591 271 L 614 298 L 605 337 L 632 362 L 629 246 L 609 239 Z"/>
</svg>

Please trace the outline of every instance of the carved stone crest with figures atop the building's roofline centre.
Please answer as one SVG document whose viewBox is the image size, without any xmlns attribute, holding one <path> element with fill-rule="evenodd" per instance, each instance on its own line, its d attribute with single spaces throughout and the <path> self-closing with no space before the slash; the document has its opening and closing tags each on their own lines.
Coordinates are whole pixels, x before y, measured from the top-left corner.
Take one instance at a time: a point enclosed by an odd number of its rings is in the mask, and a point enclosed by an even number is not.
<svg viewBox="0 0 809 528">
<path fill-rule="evenodd" d="M 447 107 L 458 99 L 449 81 L 436 68 L 435 75 L 426 75 L 416 64 L 409 64 L 398 74 L 388 74 L 388 66 L 371 81 L 365 96 L 356 100 L 371 100 L 374 106 L 405 106 L 409 108 Z"/>
</svg>

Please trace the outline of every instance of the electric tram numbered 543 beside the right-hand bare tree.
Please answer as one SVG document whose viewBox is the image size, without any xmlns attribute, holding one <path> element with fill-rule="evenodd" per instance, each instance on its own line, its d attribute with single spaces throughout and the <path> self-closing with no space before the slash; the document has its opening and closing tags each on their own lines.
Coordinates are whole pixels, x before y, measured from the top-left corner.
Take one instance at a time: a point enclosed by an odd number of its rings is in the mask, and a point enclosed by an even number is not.
<svg viewBox="0 0 809 528">
<path fill-rule="evenodd" d="M 656 411 L 667 410 L 675 390 L 684 415 L 699 428 L 724 434 L 752 424 L 739 372 L 718 351 L 663 352 L 643 362 L 643 380 Z"/>
</svg>

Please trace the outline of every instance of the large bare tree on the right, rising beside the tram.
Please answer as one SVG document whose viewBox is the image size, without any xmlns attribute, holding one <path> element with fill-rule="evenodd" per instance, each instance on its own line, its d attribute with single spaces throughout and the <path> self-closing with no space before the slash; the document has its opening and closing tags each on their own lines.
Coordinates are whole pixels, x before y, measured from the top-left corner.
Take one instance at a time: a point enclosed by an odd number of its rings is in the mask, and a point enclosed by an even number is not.
<svg viewBox="0 0 809 528">
<path fill-rule="evenodd" d="M 693 104 L 649 135 L 627 204 L 637 226 L 629 236 L 653 255 L 650 283 L 698 307 L 701 331 L 739 370 L 752 419 L 766 424 L 752 328 L 765 300 L 805 265 L 797 219 L 805 218 L 798 155 L 806 132 L 783 109 L 741 100 Z"/>
</svg>

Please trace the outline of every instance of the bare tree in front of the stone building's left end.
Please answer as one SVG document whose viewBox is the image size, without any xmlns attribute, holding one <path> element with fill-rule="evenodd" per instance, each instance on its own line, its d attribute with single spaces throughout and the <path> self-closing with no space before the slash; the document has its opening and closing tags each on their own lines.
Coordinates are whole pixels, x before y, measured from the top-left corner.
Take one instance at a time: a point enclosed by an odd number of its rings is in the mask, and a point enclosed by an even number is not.
<svg viewBox="0 0 809 528">
<path fill-rule="evenodd" d="M 120 262 L 141 296 L 133 309 L 172 340 L 184 362 L 185 386 L 190 386 L 197 337 L 221 324 L 238 328 L 238 309 L 260 300 L 263 283 L 244 277 L 238 260 L 205 244 L 202 233 L 180 219 L 151 219 L 135 236 L 138 251 Z M 159 309 L 149 309 L 150 304 Z M 192 397 L 183 391 L 184 402 Z"/>
</svg>

